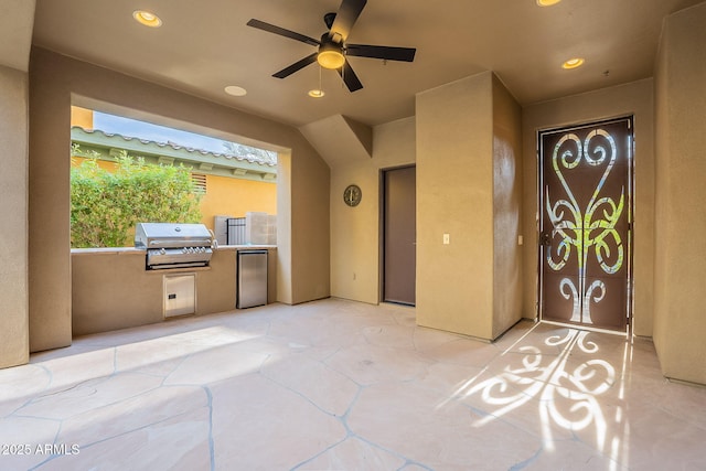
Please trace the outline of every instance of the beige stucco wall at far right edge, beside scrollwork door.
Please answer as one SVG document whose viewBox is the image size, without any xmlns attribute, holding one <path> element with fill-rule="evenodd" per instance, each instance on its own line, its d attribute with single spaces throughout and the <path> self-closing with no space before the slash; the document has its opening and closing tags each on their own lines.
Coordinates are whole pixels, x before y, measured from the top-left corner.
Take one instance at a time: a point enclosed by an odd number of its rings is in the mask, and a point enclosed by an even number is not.
<svg viewBox="0 0 706 471">
<path fill-rule="evenodd" d="M 655 96 L 654 344 L 665 376 L 706 384 L 706 3 L 665 20 Z"/>
</svg>

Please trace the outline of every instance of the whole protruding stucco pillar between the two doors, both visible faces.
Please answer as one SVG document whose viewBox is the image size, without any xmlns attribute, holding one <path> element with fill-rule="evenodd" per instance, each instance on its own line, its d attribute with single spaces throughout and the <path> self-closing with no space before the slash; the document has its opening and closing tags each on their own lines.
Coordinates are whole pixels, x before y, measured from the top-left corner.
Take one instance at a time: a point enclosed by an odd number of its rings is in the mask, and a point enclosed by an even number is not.
<svg viewBox="0 0 706 471">
<path fill-rule="evenodd" d="M 493 340 L 522 317 L 521 114 L 491 72 L 417 96 L 420 325 Z"/>
</svg>

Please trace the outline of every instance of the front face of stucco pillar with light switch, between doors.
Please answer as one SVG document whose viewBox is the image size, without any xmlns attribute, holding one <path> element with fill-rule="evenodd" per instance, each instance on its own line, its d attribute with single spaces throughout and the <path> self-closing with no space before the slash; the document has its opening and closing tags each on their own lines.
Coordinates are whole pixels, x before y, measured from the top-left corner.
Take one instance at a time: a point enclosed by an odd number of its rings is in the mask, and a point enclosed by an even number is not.
<svg viewBox="0 0 706 471">
<path fill-rule="evenodd" d="M 416 101 L 417 323 L 482 339 L 493 334 L 492 77 Z"/>
</svg>

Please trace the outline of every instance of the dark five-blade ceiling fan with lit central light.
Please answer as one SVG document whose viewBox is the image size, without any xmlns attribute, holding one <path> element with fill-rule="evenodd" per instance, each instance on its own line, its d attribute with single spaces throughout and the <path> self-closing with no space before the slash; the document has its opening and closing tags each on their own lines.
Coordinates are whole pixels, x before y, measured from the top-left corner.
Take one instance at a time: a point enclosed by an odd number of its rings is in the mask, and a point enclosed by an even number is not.
<svg viewBox="0 0 706 471">
<path fill-rule="evenodd" d="M 363 88 L 363 84 L 353 72 L 345 56 L 382 58 L 385 61 L 403 61 L 413 62 L 415 60 L 416 49 L 411 47 L 391 47 L 367 44 L 346 44 L 347 39 L 355 21 L 361 15 L 367 0 L 343 0 L 336 13 L 327 13 L 323 21 L 329 29 L 323 33 L 321 40 L 306 36 L 274 24 L 266 23 L 260 20 L 252 19 L 247 22 L 248 26 L 257 28 L 280 36 L 301 41 L 302 43 L 318 46 L 319 50 L 301 61 L 295 62 L 288 67 L 272 74 L 272 77 L 285 78 L 297 71 L 304 68 L 309 64 L 318 62 L 324 68 L 334 68 L 343 78 L 345 86 L 351 92 Z"/>
</svg>

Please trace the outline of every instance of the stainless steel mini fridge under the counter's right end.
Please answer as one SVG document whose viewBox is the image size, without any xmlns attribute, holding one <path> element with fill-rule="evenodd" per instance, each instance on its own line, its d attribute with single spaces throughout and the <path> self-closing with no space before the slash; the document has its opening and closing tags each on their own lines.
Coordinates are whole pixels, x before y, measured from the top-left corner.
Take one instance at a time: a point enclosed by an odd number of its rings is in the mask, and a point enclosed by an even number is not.
<svg viewBox="0 0 706 471">
<path fill-rule="evenodd" d="M 267 250 L 238 250 L 237 309 L 267 304 Z"/>
</svg>

